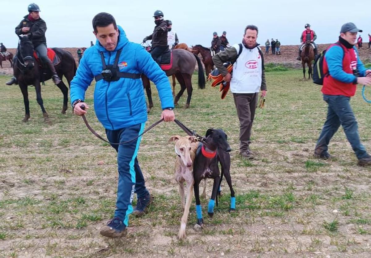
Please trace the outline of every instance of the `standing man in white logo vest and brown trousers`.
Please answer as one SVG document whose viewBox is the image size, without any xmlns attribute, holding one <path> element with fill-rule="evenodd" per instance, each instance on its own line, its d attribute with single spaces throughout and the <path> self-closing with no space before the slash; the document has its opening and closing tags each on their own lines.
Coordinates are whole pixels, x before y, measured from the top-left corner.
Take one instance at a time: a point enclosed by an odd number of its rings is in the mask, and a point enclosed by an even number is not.
<svg viewBox="0 0 371 258">
<path fill-rule="evenodd" d="M 250 150 L 250 136 L 258 94 L 260 90 L 262 97 L 267 94 L 263 52 L 256 43 L 257 34 L 257 27 L 248 25 L 242 44 L 234 44 L 232 48 L 226 48 L 213 56 L 214 65 L 223 75 L 224 81 L 230 81 L 230 90 L 240 120 L 240 154 L 247 159 L 254 158 Z M 233 63 L 233 76 L 223 66 L 225 62 Z"/>
</svg>

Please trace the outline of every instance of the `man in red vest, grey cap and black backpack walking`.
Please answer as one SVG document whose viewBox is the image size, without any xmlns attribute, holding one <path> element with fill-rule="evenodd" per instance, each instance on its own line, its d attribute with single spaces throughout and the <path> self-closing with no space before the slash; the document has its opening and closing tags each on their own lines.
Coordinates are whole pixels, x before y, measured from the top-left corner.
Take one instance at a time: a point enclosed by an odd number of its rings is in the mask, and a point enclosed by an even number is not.
<svg viewBox="0 0 371 258">
<path fill-rule="evenodd" d="M 331 158 L 328 144 L 340 125 L 351 144 L 359 166 L 371 165 L 371 156 L 359 140 L 358 125 L 350 106 L 357 84 L 371 85 L 371 70 L 366 69 L 359 59 L 355 47 L 357 32 L 362 32 L 354 23 L 345 23 L 340 30 L 339 41 L 332 44 L 325 54 L 322 93 L 328 104 L 327 117 L 317 141 L 314 156 Z"/>
</svg>

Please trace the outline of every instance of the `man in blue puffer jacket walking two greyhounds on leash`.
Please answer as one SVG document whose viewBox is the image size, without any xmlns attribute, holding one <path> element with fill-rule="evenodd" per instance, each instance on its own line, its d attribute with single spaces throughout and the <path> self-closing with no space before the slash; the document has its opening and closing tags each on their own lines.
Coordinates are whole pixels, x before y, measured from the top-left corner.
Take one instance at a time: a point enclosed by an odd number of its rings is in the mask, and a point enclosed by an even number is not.
<svg viewBox="0 0 371 258">
<path fill-rule="evenodd" d="M 145 74 L 157 86 L 165 122 L 174 121 L 174 102 L 170 83 L 139 44 L 129 42 L 124 30 L 116 26 L 114 17 L 98 13 L 93 18 L 96 44 L 86 49 L 76 76 L 71 82 L 71 103 L 76 115 L 86 114 L 89 108 L 84 102 L 85 91 L 93 78 L 94 110 L 106 129 L 110 142 L 119 143 L 137 137 L 144 131 L 147 107 L 140 74 Z M 104 61 L 104 62 L 103 62 Z M 81 109 L 85 105 L 86 110 Z M 137 153 L 141 137 L 127 144 L 112 144 L 118 152 L 118 190 L 114 218 L 101 229 L 110 238 L 126 235 L 134 193 L 138 195 L 138 215 L 144 214 L 151 196 L 144 184 Z"/>
</svg>

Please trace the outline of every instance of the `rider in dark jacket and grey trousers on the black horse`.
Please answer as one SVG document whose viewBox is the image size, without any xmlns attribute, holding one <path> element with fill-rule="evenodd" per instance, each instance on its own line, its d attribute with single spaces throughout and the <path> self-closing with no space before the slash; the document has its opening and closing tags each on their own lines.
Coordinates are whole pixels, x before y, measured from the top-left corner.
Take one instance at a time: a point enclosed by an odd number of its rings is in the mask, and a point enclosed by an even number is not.
<svg viewBox="0 0 371 258">
<path fill-rule="evenodd" d="M 27 7 L 29 14 L 24 16 L 23 20 L 16 27 L 17 35 L 27 35 L 31 40 L 33 47 L 36 52 L 39 54 L 39 58 L 43 63 L 46 63 L 50 71 L 52 71 L 52 79 L 55 84 L 60 83 L 60 78 L 55 71 L 55 67 L 47 56 L 46 48 L 46 23 L 43 19 L 40 18 L 40 8 L 37 4 L 32 3 Z M 16 84 L 17 79 L 13 76 L 10 81 L 6 82 L 6 85 Z"/>
</svg>

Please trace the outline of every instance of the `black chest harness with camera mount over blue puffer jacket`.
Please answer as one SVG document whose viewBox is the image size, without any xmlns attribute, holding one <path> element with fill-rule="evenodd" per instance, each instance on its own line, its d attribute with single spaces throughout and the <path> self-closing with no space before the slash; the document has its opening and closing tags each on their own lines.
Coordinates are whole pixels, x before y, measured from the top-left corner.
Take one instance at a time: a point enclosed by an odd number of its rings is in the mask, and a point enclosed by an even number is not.
<svg viewBox="0 0 371 258">
<path fill-rule="evenodd" d="M 95 81 L 104 79 L 106 82 L 118 81 L 120 78 L 140 79 L 142 74 L 132 74 L 129 72 L 120 72 L 117 66 L 118 59 L 120 58 L 121 49 L 117 51 L 115 62 L 113 65 L 106 65 L 103 52 L 101 52 L 101 59 L 103 71 L 101 74 L 95 76 Z"/>
</svg>

